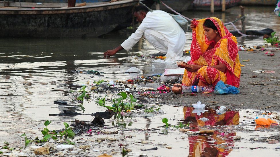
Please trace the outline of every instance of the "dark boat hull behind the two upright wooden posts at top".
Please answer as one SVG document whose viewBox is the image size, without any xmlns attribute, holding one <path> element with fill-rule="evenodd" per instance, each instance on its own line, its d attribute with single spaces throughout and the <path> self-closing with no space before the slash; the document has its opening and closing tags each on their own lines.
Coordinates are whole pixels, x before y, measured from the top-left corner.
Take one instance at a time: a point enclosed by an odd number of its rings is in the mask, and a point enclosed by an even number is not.
<svg viewBox="0 0 280 157">
<path fill-rule="evenodd" d="M 240 3 L 241 0 L 225 0 L 225 8 L 231 8 L 238 3 Z M 215 11 L 221 11 L 222 10 L 222 0 L 214 0 L 214 10 Z M 211 0 L 194 0 L 193 4 L 190 5 L 189 10 L 201 10 L 201 11 L 210 11 L 211 8 Z"/>
</svg>

